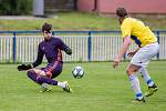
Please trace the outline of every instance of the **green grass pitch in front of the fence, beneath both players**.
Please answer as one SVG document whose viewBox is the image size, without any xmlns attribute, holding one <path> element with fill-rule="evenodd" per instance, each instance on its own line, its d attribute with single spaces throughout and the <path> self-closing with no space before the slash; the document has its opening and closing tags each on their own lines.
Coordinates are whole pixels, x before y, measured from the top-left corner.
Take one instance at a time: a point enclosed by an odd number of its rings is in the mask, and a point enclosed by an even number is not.
<svg viewBox="0 0 166 111">
<path fill-rule="evenodd" d="M 44 64 L 42 64 L 44 65 Z M 74 79 L 71 70 L 82 65 L 85 75 Z M 65 63 L 56 79 L 68 80 L 73 93 L 54 87 L 51 92 L 39 92 L 39 85 L 30 81 L 25 72 L 18 72 L 17 64 L 0 64 L 0 111 L 165 111 L 166 61 L 152 61 L 148 70 L 158 84 L 158 92 L 146 98 L 146 103 L 132 103 L 125 67 L 113 69 L 111 62 Z M 139 79 L 145 92 L 147 87 Z"/>
</svg>

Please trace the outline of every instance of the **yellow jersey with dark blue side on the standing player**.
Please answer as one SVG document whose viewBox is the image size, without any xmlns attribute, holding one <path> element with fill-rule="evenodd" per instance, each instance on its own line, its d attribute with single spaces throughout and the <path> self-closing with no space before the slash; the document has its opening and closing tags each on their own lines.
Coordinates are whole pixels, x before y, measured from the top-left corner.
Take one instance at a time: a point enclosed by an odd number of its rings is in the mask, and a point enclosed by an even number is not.
<svg viewBox="0 0 166 111">
<path fill-rule="evenodd" d="M 122 37 L 131 37 L 138 47 L 157 41 L 156 36 L 142 21 L 134 18 L 125 18 L 121 24 Z"/>
</svg>

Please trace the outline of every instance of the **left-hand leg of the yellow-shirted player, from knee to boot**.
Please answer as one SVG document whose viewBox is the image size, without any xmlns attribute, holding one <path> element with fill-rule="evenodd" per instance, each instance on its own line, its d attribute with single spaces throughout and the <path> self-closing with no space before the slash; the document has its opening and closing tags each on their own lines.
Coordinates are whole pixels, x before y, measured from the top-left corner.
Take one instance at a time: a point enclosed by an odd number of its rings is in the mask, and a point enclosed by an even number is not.
<svg viewBox="0 0 166 111">
<path fill-rule="evenodd" d="M 127 73 L 128 79 L 131 81 L 132 88 L 135 92 L 135 97 L 136 97 L 135 100 L 145 102 L 142 90 L 141 90 L 139 80 L 136 75 L 136 71 L 138 69 L 139 69 L 139 67 L 137 67 L 137 65 L 128 64 L 126 73 Z"/>
</svg>

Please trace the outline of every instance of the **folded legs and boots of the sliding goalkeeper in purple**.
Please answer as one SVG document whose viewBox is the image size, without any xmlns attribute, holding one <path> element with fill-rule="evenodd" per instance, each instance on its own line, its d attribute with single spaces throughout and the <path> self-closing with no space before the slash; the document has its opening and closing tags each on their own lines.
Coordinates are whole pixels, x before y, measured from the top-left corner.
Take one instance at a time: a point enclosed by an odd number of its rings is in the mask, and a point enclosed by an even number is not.
<svg viewBox="0 0 166 111">
<path fill-rule="evenodd" d="M 62 64 L 59 64 L 55 69 L 52 70 L 51 74 L 49 72 L 49 67 L 42 69 L 33 69 L 28 71 L 28 77 L 33 80 L 35 83 L 41 84 L 42 91 L 50 91 L 51 85 L 59 85 L 63 88 L 64 91 L 71 92 L 72 89 L 69 85 L 68 81 L 60 82 L 53 78 L 58 77 L 62 72 Z M 50 77 L 51 75 L 51 77 Z"/>
</svg>

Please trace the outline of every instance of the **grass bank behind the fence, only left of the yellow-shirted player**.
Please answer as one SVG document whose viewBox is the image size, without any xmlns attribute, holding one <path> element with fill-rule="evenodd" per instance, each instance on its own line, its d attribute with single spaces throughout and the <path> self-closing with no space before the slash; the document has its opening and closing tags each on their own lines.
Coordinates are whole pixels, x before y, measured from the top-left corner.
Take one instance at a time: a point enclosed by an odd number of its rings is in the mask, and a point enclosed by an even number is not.
<svg viewBox="0 0 166 111">
<path fill-rule="evenodd" d="M 102 18 L 92 13 L 56 13 L 53 18 L 38 20 L 0 20 L 0 30 L 40 30 L 44 22 L 53 24 L 53 30 L 115 30 L 118 26 L 114 19 Z"/>
</svg>

